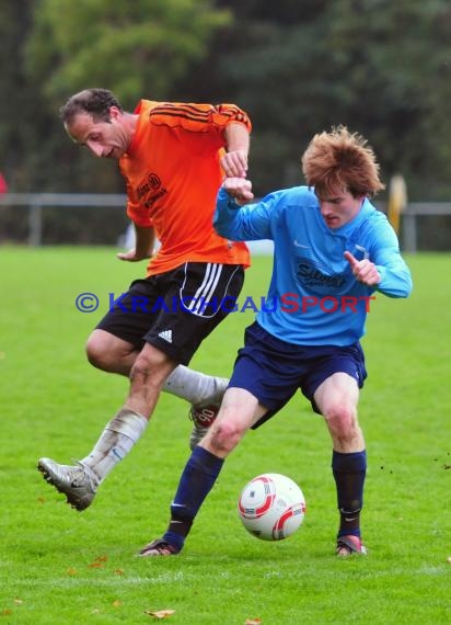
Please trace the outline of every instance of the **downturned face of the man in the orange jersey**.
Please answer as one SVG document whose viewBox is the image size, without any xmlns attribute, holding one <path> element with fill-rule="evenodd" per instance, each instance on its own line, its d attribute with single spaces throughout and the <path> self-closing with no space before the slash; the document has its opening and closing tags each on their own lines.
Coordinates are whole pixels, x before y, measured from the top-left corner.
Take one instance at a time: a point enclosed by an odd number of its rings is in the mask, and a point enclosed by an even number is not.
<svg viewBox="0 0 451 625">
<path fill-rule="evenodd" d="M 73 141 L 86 146 L 94 156 L 118 159 L 127 151 L 131 136 L 115 106 L 111 109 L 109 120 L 97 122 L 89 113 L 80 113 L 66 124 L 66 130 Z"/>
</svg>

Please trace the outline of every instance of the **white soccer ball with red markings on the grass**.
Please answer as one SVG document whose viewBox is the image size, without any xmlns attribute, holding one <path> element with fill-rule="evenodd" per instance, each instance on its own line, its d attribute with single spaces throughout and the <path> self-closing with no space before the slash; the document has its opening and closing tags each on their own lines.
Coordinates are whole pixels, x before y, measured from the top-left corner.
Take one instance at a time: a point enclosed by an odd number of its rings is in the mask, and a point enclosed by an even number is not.
<svg viewBox="0 0 451 625">
<path fill-rule="evenodd" d="M 262 541 L 291 536 L 305 515 L 305 499 L 299 486 L 278 473 L 254 477 L 240 495 L 238 513 L 244 527 Z"/>
</svg>

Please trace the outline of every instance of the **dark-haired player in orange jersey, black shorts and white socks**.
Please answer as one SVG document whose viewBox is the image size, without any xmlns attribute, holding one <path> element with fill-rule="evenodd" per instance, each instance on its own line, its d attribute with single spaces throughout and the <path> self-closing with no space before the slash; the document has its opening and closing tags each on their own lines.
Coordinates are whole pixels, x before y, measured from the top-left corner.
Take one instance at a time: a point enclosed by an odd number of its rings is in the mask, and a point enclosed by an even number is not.
<svg viewBox="0 0 451 625">
<path fill-rule="evenodd" d="M 212 216 L 223 175 L 246 177 L 251 122 L 234 104 L 141 100 L 131 113 L 106 89 L 72 95 L 61 120 L 76 144 L 118 160 L 136 230 L 135 248 L 118 258 L 150 258 L 147 276 L 116 299 L 86 345 L 91 364 L 129 376 L 124 406 L 74 466 L 38 462 L 81 511 L 142 435 L 162 389 L 192 404 L 192 448 L 216 417 L 228 379 L 185 365 L 233 309 L 223 303 L 236 299 L 250 264 L 245 243 L 217 235 Z"/>
</svg>

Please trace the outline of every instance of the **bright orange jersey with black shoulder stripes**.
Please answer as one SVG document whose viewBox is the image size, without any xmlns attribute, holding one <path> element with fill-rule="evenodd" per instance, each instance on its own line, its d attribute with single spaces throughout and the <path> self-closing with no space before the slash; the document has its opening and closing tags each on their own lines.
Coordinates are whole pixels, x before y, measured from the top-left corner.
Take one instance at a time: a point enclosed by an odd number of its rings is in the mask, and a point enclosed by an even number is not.
<svg viewBox="0 0 451 625">
<path fill-rule="evenodd" d="M 243 242 L 216 234 L 212 217 L 222 182 L 220 156 L 228 124 L 247 115 L 234 104 L 182 104 L 141 100 L 138 125 L 119 159 L 127 183 L 127 215 L 138 226 L 153 226 L 161 242 L 147 275 L 184 262 L 250 265 Z"/>
</svg>

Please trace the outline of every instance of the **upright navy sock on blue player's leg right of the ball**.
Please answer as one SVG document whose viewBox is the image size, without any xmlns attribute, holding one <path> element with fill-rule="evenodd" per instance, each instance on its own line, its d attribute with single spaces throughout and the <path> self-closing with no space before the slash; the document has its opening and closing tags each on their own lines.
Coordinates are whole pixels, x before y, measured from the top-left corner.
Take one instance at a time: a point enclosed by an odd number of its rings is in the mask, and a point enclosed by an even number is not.
<svg viewBox="0 0 451 625">
<path fill-rule="evenodd" d="M 367 452 L 342 454 L 334 450 L 332 470 L 337 488 L 340 515 L 338 537 L 360 536 L 360 510 L 363 505 L 363 485 L 367 474 Z"/>
</svg>

